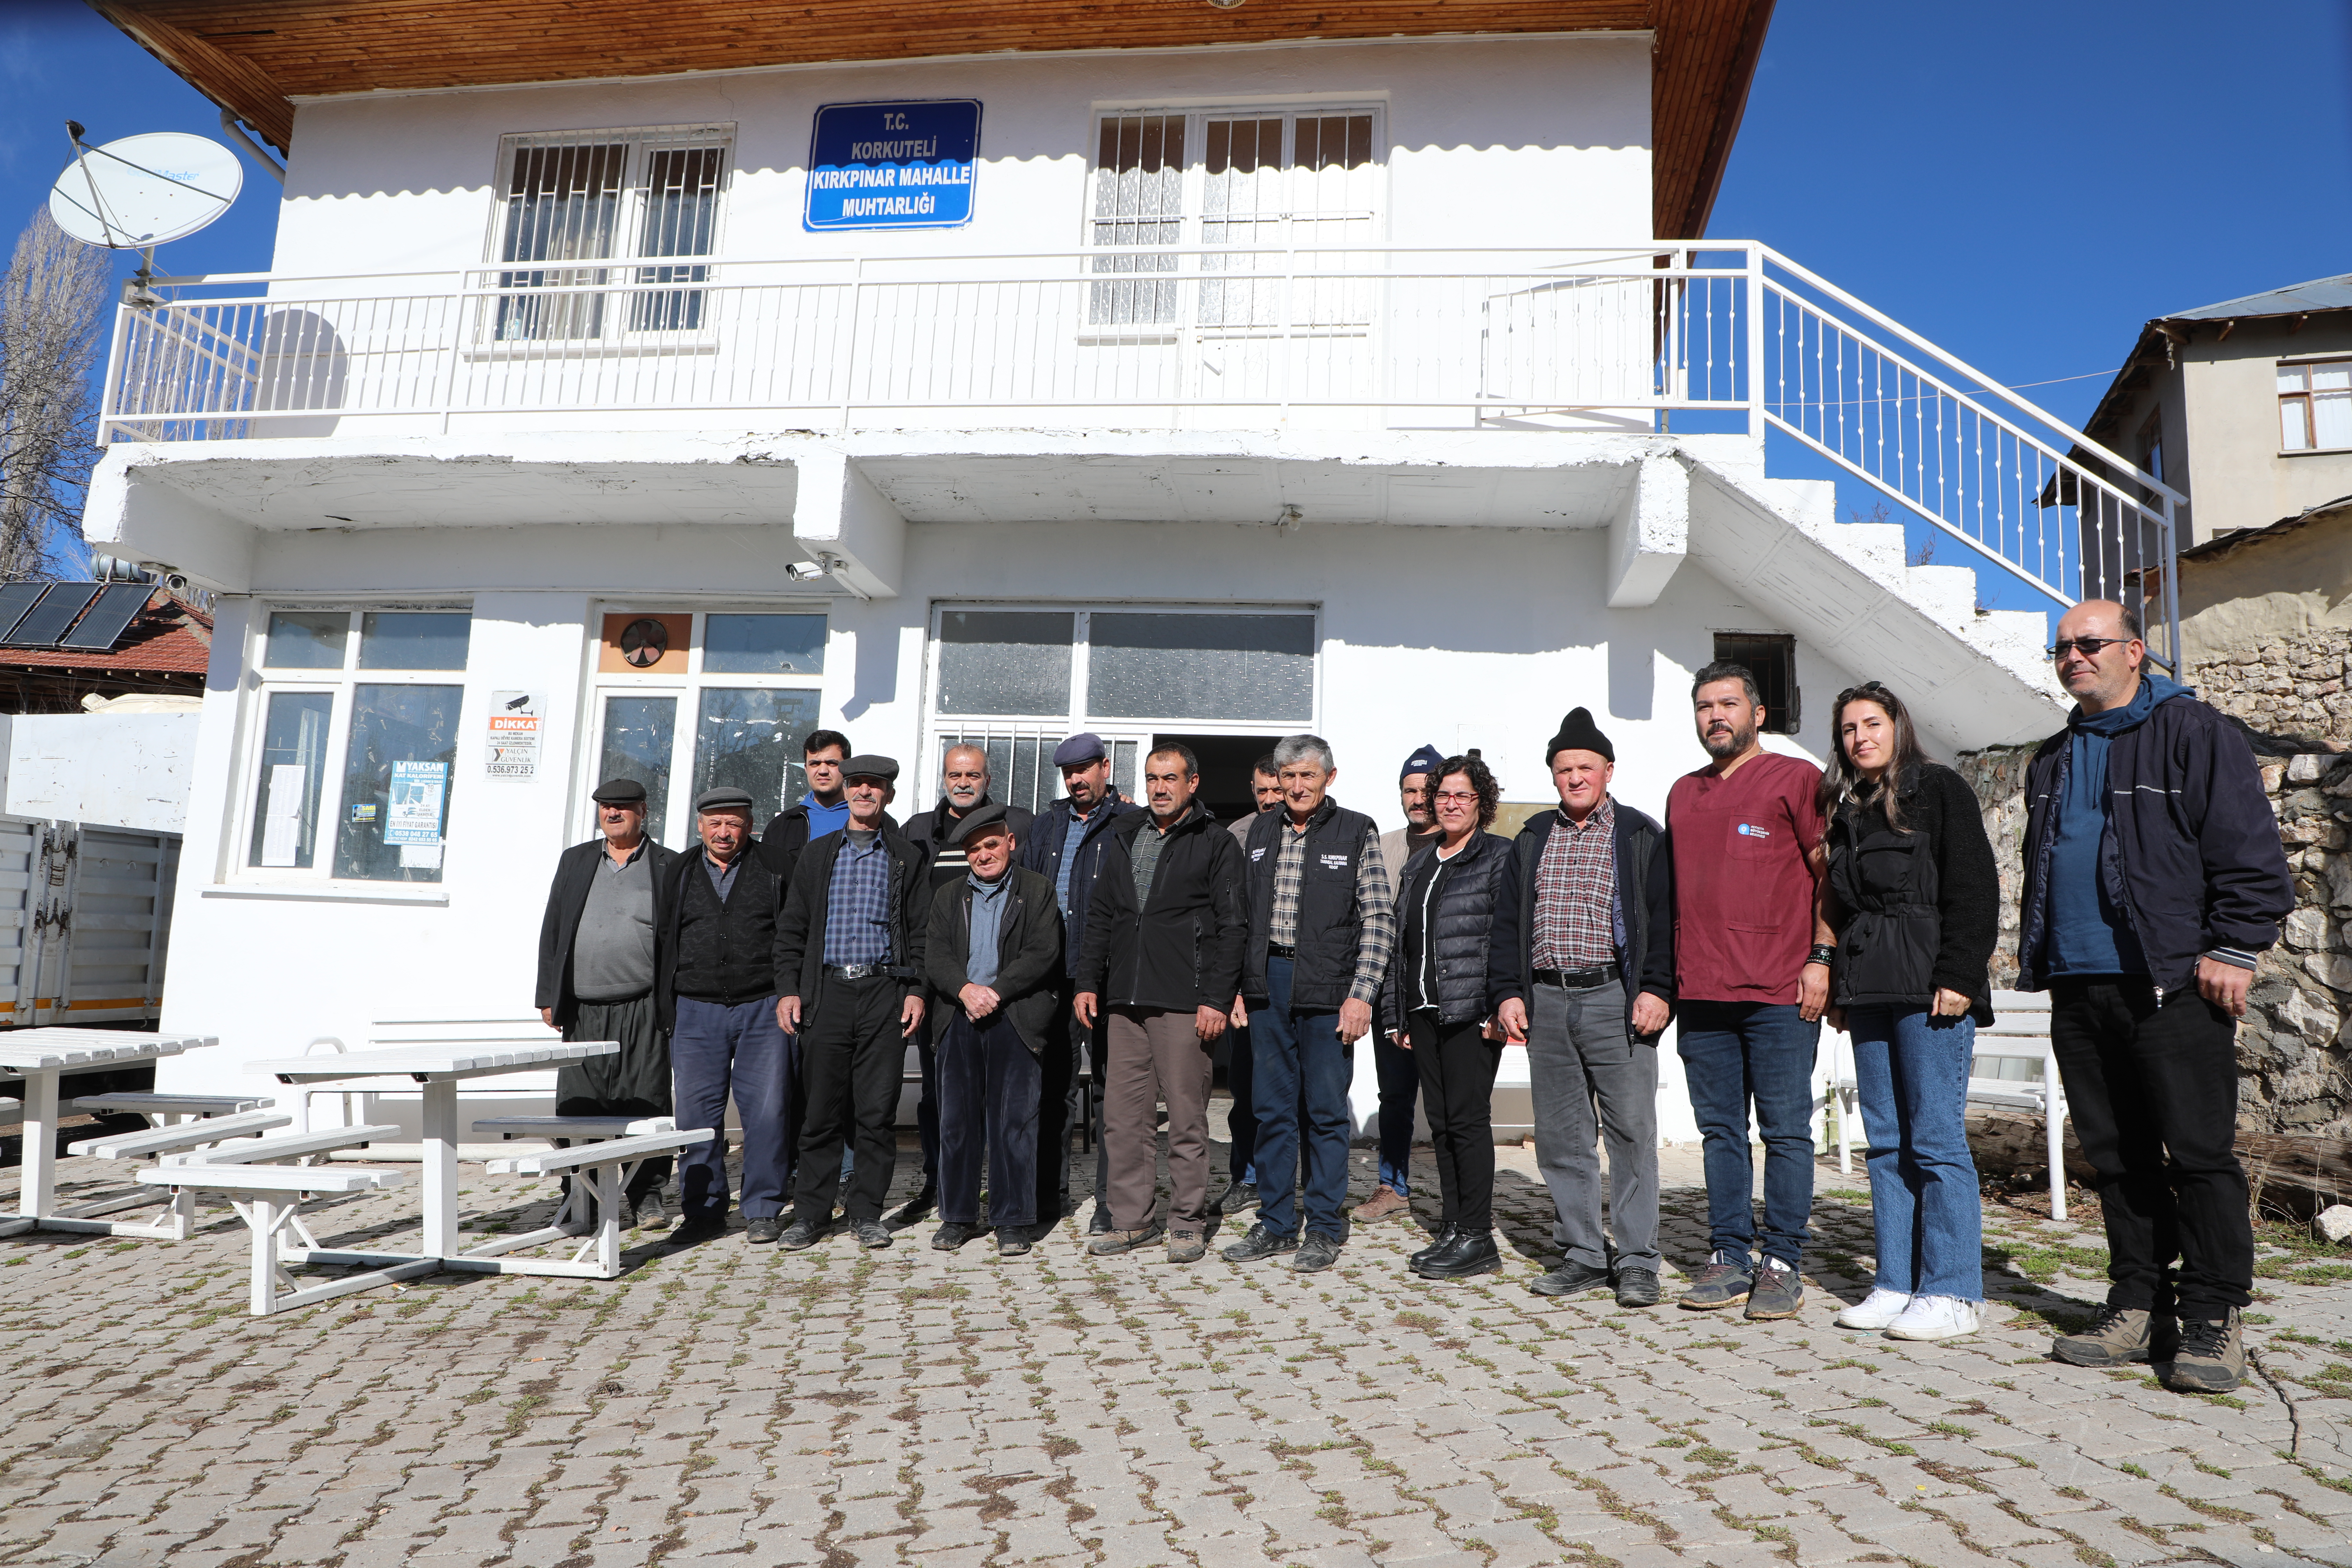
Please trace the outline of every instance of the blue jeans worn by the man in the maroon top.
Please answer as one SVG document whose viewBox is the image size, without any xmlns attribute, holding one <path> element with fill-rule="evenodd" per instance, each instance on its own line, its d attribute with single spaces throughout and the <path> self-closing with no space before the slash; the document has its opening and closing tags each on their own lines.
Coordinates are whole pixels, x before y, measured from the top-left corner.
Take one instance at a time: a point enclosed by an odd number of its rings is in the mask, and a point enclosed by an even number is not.
<svg viewBox="0 0 2352 1568">
<path fill-rule="evenodd" d="M 1684 1001 L 1682 1072 L 1708 1166 L 1708 1246 L 1755 1265 L 1748 1103 L 1764 1135 L 1764 1255 L 1799 1267 L 1813 1215 L 1813 1053 L 1820 1025 L 1795 1001 Z"/>
</svg>

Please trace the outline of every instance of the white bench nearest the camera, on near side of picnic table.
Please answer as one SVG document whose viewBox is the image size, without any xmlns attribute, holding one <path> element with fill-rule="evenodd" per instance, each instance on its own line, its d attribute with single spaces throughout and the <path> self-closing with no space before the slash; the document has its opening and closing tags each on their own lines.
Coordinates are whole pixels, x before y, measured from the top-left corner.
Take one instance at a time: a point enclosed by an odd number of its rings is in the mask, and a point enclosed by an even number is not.
<svg viewBox="0 0 2352 1568">
<path fill-rule="evenodd" d="M 303 1286 L 287 1269 L 285 1260 L 301 1260 L 318 1248 L 318 1237 L 303 1225 L 301 1204 L 306 1197 L 346 1197 L 355 1192 L 383 1192 L 414 1180 L 407 1171 L 381 1171 L 369 1166 L 313 1166 L 334 1150 L 388 1138 L 397 1126 L 348 1126 L 332 1133 L 287 1133 L 280 1138 L 240 1138 L 226 1147 L 191 1150 L 167 1154 L 162 1164 L 134 1173 L 134 1180 L 181 1194 L 219 1192 L 238 1211 L 254 1237 L 254 1267 L 249 1309 L 254 1316 L 308 1307 L 353 1291 L 367 1291 L 393 1279 L 416 1279 L 430 1274 L 433 1258 L 400 1262 L 367 1274 L 346 1274 L 325 1284 Z M 296 1161 L 296 1164 L 280 1164 Z M 285 1248 L 280 1260 L 280 1237 L 292 1232 L 299 1248 Z"/>
</svg>

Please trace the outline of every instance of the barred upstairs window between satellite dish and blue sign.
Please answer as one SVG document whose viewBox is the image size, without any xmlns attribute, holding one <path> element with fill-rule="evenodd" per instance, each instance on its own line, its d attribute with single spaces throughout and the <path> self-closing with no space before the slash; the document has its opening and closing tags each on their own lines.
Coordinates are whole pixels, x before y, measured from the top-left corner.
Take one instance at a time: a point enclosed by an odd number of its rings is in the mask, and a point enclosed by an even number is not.
<svg viewBox="0 0 2352 1568">
<path fill-rule="evenodd" d="M 602 339 L 696 331 L 703 289 L 642 284 L 710 282 L 710 266 L 670 261 L 717 249 L 720 193 L 727 186 L 731 125 L 633 132 L 508 136 L 501 143 L 501 202 L 494 259 L 501 263 L 579 263 L 661 256 L 661 266 L 508 266 L 499 270 L 494 336 L 513 341 Z M 626 301 L 609 310 L 609 284 Z"/>
</svg>

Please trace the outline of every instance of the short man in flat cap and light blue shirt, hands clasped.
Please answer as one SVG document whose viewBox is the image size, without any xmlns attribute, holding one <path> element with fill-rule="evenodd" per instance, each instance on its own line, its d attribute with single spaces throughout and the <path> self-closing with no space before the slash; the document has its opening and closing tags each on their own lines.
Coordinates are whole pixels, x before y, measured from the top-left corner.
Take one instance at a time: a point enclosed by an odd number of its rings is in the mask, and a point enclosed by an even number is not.
<svg viewBox="0 0 2352 1568">
<path fill-rule="evenodd" d="M 931 1246 L 955 1251 L 981 1234 L 985 1152 L 997 1255 L 1018 1258 L 1037 1222 L 1037 1067 L 1061 1006 L 1061 910 L 1051 882 L 1014 865 L 1007 806 L 974 806 L 948 844 L 962 877 L 931 893 L 924 938 L 938 1025 L 941 1227 Z"/>
</svg>

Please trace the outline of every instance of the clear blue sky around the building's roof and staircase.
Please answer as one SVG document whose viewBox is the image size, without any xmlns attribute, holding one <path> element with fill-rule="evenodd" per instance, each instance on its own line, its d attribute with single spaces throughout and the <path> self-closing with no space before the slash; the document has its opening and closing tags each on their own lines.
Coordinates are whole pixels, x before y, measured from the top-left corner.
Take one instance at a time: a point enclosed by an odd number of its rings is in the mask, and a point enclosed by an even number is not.
<svg viewBox="0 0 2352 1568">
<path fill-rule="evenodd" d="M 68 118 L 96 141 L 219 136 L 82 5 L 5 0 L 0 242 L 47 200 Z M 273 193 L 249 167 L 160 270 L 266 268 Z M 2082 421 L 2147 317 L 2352 273 L 2352 5 L 1780 0 L 1710 235 L 1764 240 Z M 1828 473 L 1780 437 L 1771 468 Z"/>
</svg>

